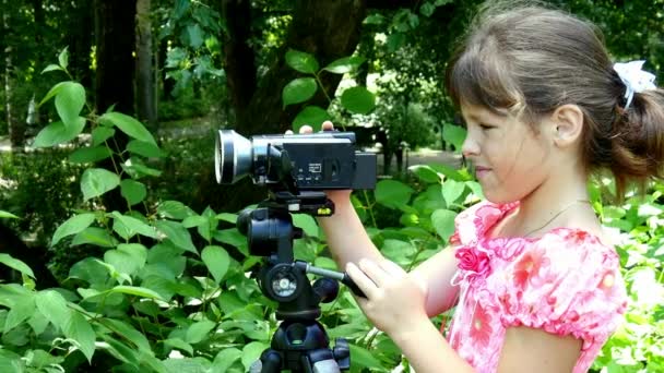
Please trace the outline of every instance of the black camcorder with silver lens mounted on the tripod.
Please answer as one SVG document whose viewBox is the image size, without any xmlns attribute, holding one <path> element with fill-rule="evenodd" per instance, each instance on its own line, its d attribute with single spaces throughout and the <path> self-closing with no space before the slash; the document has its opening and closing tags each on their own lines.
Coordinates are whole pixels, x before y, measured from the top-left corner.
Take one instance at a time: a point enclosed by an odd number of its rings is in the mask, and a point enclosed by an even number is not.
<svg viewBox="0 0 664 373">
<path fill-rule="evenodd" d="M 374 189 L 376 171 L 376 154 L 358 152 L 353 132 L 257 135 L 249 140 L 233 130 L 221 130 L 216 137 L 218 183 L 250 176 L 256 184 L 298 195 Z"/>
</svg>

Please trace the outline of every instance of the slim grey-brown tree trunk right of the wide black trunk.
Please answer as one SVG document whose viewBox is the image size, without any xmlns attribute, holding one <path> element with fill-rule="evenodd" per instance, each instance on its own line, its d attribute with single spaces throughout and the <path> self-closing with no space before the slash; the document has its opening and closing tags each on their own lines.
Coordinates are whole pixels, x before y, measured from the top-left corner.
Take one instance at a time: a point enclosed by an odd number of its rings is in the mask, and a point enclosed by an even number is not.
<svg viewBox="0 0 664 373">
<path fill-rule="evenodd" d="M 139 119 L 152 132 L 157 130 L 157 112 L 152 51 L 150 0 L 137 0 L 137 107 Z"/>
</svg>

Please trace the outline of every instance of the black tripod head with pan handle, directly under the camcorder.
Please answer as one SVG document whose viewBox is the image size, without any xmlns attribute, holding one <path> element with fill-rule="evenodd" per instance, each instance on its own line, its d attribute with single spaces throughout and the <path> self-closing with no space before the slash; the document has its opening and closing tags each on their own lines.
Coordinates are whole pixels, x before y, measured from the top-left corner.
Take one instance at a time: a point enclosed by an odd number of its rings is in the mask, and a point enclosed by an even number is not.
<svg viewBox="0 0 664 373">
<path fill-rule="evenodd" d="M 239 231 L 247 236 L 249 253 L 265 256 L 259 274 L 259 284 L 265 297 L 277 301 L 278 320 L 316 320 L 320 316 L 320 302 L 334 300 L 339 284 L 346 284 L 358 296 L 361 290 L 346 274 L 313 267 L 295 261 L 293 240 L 303 237 L 300 228 L 293 226 L 290 212 L 312 216 L 330 216 L 334 204 L 322 192 L 271 193 L 256 209 L 244 210 L 237 220 Z M 309 282 L 306 274 L 323 276 Z"/>
</svg>

